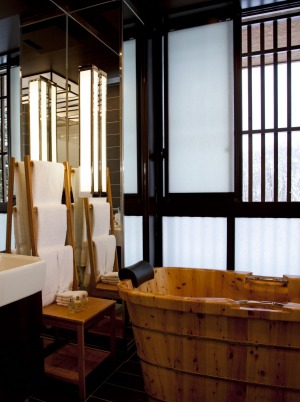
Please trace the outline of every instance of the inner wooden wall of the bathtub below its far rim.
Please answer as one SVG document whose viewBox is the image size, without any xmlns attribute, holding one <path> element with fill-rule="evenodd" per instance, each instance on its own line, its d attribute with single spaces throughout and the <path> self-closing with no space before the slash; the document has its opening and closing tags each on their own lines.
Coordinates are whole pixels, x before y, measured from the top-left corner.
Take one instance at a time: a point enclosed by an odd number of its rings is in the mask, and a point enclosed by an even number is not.
<svg viewBox="0 0 300 402">
<path fill-rule="evenodd" d="M 233 300 L 300 302 L 300 278 L 286 276 L 287 284 L 250 280 L 250 272 L 192 268 L 156 268 L 155 280 L 140 286 L 151 294 L 190 297 L 224 297 Z"/>
</svg>

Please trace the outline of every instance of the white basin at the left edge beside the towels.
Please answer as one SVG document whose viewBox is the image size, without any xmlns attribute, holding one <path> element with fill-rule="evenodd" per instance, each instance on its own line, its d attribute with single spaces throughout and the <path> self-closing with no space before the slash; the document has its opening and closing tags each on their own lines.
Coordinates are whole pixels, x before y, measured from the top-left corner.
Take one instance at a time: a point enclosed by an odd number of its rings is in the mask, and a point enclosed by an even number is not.
<svg viewBox="0 0 300 402">
<path fill-rule="evenodd" d="M 45 276 L 39 257 L 0 253 L 0 307 L 41 291 Z"/>
</svg>

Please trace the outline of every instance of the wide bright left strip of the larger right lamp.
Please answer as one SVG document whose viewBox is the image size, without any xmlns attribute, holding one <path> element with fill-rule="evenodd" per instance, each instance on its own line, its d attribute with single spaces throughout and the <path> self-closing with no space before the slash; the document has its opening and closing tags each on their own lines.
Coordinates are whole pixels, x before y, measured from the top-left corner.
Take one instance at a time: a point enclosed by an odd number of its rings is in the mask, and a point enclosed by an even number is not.
<svg viewBox="0 0 300 402">
<path fill-rule="evenodd" d="M 91 193 L 91 70 L 79 72 L 80 196 Z"/>
</svg>

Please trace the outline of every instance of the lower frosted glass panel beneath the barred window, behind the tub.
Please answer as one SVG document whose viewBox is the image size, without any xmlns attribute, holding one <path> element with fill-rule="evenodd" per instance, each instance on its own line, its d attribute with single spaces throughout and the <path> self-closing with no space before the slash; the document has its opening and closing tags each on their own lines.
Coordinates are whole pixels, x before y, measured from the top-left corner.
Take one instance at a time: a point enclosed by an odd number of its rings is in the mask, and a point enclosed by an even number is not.
<svg viewBox="0 0 300 402">
<path fill-rule="evenodd" d="M 235 269 L 300 275 L 300 219 L 236 219 Z"/>
</svg>

